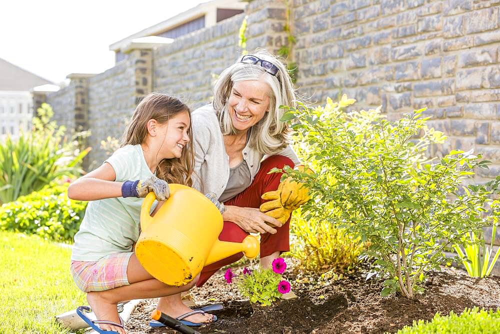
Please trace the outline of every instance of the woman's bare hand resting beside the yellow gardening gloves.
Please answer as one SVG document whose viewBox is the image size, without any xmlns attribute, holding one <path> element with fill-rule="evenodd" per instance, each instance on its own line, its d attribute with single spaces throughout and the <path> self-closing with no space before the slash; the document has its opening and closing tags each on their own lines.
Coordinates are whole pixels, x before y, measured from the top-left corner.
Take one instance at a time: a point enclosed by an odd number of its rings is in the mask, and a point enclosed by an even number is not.
<svg viewBox="0 0 500 334">
<path fill-rule="evenodd" d="M 276 233 L 281 221 L 260 212 L 258 208 L 225 205 L 224 220 L 232 221 L 248 233 Z"/>
</svg>

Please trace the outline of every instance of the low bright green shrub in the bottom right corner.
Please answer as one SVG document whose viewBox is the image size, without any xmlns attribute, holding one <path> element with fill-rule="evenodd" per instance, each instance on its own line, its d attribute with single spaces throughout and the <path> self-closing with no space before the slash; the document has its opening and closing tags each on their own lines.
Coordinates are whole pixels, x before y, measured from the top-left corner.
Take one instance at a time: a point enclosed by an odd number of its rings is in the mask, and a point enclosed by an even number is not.
<svg viewBox="0 0 500 334">
<path fill-rule="evenodd" d="M 434 315 L 432 321 L 413 321 L 413 325 L 404 326 L 397 334 L 497 334 L 500 333 L 500 310 L 465 309 L 460 315 L 453 311 L 449 315 Z"/>
</svg>

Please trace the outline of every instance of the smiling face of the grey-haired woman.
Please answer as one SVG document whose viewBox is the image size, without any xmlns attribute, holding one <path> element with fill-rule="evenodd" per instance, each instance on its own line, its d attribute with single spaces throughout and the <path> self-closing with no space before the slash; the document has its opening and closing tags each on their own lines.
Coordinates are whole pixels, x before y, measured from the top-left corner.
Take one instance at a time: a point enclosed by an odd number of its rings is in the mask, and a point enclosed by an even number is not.
<svg viewBox="0 0 500 334">
<path fill-rule="evenodd" d="M 255 125 L 269 108 L 269 85 L 262 79 L 234 82 L 228 100 L 232 125 L 239 131 Z"/>
</svg>

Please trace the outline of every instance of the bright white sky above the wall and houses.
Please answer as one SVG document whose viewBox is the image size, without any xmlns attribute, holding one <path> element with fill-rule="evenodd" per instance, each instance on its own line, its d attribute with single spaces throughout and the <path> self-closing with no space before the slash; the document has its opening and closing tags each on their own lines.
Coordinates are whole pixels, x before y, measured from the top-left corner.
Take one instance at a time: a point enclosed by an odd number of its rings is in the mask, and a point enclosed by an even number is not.
<svg viewBox="0 0 500 334">
<path fill-rule="evenodd" d="M 0 58 L 54 83 L 100 73 L 114 66 L 110 44 L 206 1 L 1 1 Z"/>
</svg>

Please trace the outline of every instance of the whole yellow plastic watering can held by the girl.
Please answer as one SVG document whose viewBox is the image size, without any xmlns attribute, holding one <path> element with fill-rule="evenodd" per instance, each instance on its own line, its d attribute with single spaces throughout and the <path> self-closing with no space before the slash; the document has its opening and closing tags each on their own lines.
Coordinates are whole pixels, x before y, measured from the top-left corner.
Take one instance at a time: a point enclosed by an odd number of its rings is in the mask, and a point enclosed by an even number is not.
<svg viewBox="0 0 500 334">
<path fill-rule="evenodd" d="M 243 242 L 220 241 L 223 219 L 217 207 L 201 192 L 182 184 L 169 184 L 170 197 L 154 217 L 150 192 L 140 210 L 140 236 L 135 255 L 154 278 L 180 286 L 191 281 L 203 266 L 243 252 L 257 256 L 260 246 L 253 235 Z"/>
</svg>

